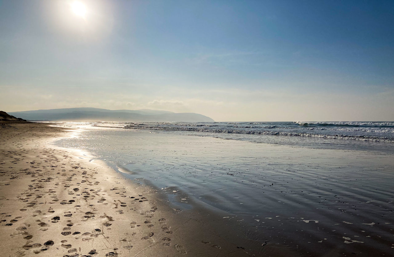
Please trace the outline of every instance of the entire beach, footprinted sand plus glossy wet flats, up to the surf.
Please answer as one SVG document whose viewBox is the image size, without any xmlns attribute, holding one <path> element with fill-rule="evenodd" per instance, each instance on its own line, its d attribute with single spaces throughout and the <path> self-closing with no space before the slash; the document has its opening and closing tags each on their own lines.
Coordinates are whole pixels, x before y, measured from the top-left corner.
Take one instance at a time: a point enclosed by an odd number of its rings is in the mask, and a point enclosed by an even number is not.
<svg viewBox="0 0 394 257">
<path fill-rule="evenodd" d="M 392 249 L 389 151 L 6 121 L 0 154 L 1 256 Z"/>
</svg>

